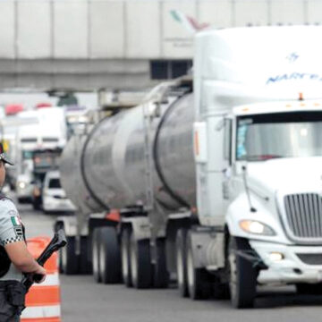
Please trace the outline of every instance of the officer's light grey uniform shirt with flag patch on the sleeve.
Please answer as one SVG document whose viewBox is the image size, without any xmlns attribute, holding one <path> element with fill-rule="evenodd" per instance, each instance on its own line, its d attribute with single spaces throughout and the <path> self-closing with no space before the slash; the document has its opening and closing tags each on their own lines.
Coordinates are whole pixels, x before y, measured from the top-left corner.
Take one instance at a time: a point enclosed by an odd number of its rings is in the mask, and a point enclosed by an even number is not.
<svg viewBox="0 0 322 322">
<path fill-rule="evenodd" d="M 12 200 L 0 199 L 0 245 L 22 241 L 24 241 L 23 228 L 17 208 Z M 11 264 L 9 271 L 0 278 L 0 281 L 21 281 L 21 278 L 21 271 Z"/>
</svg>

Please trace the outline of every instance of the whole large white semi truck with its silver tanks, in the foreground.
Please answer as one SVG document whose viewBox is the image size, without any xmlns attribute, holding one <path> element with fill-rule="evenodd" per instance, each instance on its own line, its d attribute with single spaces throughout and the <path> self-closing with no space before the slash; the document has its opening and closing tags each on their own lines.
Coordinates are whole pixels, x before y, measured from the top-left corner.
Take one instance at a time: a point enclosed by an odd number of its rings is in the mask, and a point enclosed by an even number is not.
<svg viewBox="0 0 322 322">
<path fill-rule="evenodd" d="M 235 308 L 258 284 L 322 293 L 321 36 L 202 31 L 193 86 L 160 85 L 72 138 L 61 177 L 78 215 L 56 222 L 62 269 L 92 264 L 97 281 L 136 288 L 176 276 L 182 296 L 230 294 Z"/>
</svg>

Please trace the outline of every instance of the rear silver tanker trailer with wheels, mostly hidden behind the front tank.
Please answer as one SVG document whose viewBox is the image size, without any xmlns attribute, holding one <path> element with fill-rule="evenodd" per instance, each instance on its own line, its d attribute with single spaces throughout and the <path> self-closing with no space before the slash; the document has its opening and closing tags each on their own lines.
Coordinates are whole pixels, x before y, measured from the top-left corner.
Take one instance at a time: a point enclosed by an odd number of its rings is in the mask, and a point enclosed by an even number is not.
<svg viewBox="0 0 322 322">
<path fill-rule="evenodd" d="M 118 216 L 110 214 L 83 178 L 82 153 L 89 139 L 86 133 L 74 134 L 66 144 L 60 160 L 61 183 L 77 207 L 77 216 L 58 216 L 55 231 L 63 228 L 68 245 L 59 253 L 59 269 L 67 275 L 93 273 L 98 279 L 98 261 L 93 258 L 92 240 L 97 239 L 96 227 L 116 225 Z M 94 243 L 97 247 L 97 243 Z M 94 251 L 94 255 L 97 250 Z M 92 260 L 93 259 L 93 260 Z M 116 260 L 116 259 L 115 259 Z"/>
</svg>

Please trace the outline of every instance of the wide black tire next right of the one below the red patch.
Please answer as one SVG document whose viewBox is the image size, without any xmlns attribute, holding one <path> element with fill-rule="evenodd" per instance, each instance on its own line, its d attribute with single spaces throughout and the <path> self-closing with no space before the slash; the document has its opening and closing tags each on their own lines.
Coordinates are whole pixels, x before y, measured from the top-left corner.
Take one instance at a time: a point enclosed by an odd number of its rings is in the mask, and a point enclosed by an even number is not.
<svg viewBox="0 0 322 322">
<path fill-rule="evenodd" d="M 131 233 L 131 281 L 135 288 L 145 289 L 152 284 L 149 240 L 137 241 Z"/>
</svg>

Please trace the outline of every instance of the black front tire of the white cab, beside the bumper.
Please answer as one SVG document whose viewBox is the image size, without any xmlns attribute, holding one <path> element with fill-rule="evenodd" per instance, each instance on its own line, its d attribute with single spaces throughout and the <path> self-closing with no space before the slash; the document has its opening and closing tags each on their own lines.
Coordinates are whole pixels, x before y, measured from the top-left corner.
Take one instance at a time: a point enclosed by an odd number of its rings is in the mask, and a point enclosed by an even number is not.
<svg viewBox="0 0 322 322">
<path fill-rule="evenodd" d="M 231 302 L 236 309 L 252 308 L 256 297 L 258 272 L 252 263 L 237 254 L 249 250 L 248 242 L 231 237 L 228 244 L 227 267 Z"/>
</svg>

